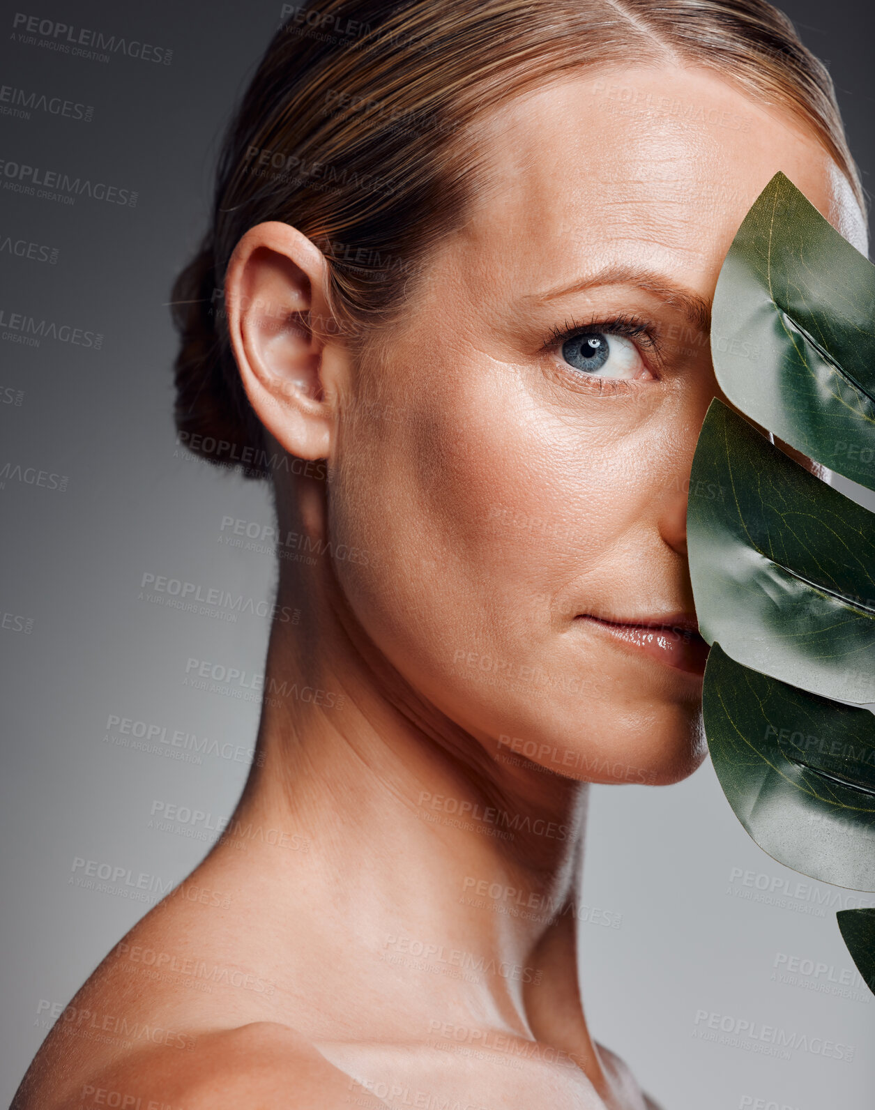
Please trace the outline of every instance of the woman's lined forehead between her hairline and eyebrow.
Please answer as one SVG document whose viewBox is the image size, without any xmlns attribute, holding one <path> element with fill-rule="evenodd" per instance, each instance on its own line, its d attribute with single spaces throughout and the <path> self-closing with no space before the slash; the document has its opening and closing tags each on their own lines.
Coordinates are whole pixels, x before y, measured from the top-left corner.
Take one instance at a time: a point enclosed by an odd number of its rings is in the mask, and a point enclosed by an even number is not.
<svg viewBox="0 0 875 1110">
<path fill-rule="evenodd" d="M 480 268 L 501 252 L 503 266 L 524 263 L 552 283 L 585 253 L 590 265 L 716 280 L 777 170 L 865 251 L 849 185 L 818 141 L 706 70 L 612 68 L 563 80 L 494 110 L 479 145 L 486 185 L 462 235 Z"/>
</svg>

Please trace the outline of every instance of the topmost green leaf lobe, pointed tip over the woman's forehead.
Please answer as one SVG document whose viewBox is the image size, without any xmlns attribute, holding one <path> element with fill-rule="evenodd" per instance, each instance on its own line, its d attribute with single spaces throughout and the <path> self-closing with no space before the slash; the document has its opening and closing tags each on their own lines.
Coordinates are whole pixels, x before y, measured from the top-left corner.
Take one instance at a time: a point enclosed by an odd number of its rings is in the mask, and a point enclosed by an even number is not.
<svg viewBox="0 0 875 1110">
<path fill-rule="evenodd" d="M 783 173 L 726 255 L 711 350 L 742 412 L 875 490 L 875 266 Z"/>
</svg>

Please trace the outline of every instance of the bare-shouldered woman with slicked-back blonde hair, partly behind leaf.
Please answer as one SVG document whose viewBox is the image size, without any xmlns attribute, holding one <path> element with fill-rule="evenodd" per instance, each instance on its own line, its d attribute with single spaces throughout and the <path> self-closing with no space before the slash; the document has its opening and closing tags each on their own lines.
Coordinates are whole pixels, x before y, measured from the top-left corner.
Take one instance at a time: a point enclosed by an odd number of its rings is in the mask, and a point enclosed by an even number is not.
<svg viewBox="0 0 875 1110">
<path fill-rule="evenodd" d="M 292 11 L 174 296 L 181 434 L 275 490 L 257 758 L 16 1110 L 655 1106 L 583 1012 L 586 784 L 704 755 L 708 303 L 777 170 L 864 248 L 761 0 Z"/>
</svg>

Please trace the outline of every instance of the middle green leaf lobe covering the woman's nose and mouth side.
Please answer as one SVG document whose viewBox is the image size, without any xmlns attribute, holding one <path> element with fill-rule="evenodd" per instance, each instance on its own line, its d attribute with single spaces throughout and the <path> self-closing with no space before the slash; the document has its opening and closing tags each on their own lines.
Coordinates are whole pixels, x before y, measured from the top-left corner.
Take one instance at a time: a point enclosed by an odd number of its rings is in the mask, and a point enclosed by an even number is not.
<svg viewBox="0 0 875 1110">
<path fill-rule="evenodd" d="M 824 697 L 875 702 L 875 516 L 717 400 L 693 458 L 687 547 L 708 643 Z"/>
</svg>

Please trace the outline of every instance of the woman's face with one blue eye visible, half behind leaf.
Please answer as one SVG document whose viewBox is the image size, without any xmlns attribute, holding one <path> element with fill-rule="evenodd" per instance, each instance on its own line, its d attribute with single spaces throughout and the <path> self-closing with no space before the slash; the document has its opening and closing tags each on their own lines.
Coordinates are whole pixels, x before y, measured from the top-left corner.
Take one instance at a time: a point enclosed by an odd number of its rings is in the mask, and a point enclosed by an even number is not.
<svg viewBox="0 0 875 1110">
<path fill-rule="evenodd" d="M 487 190 L 343 386 L 369 415 L 341 423 L 330 527 L 366 565 L 336 572 L 491 749 L 674 781 L 704 750 L 685 518 L 721 263 L 777 170 L 864 249 L 861 216 L 813 138 L 704 70 L 545 88 L 480 142 Z"/>
</svg>

